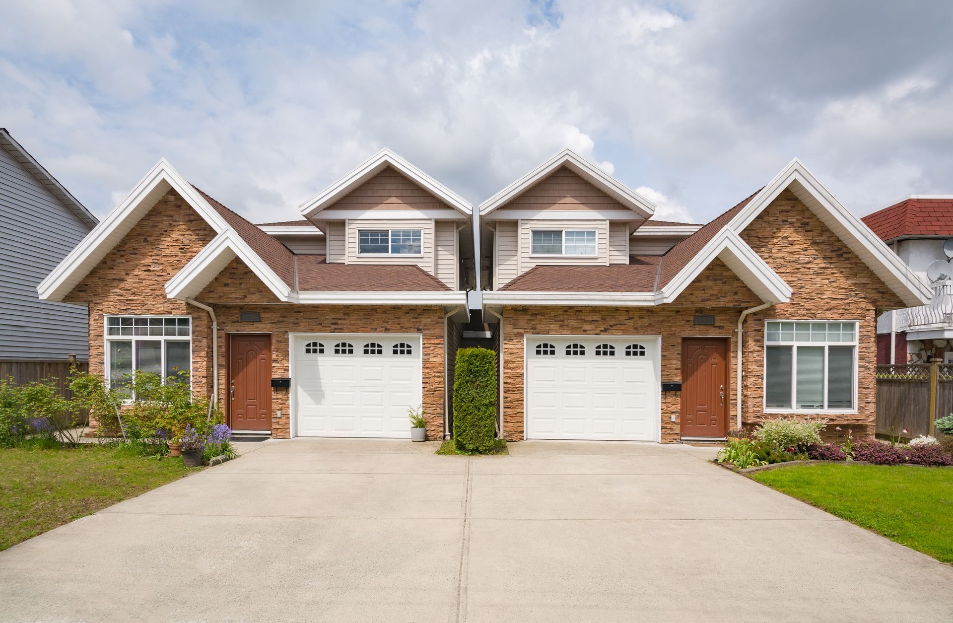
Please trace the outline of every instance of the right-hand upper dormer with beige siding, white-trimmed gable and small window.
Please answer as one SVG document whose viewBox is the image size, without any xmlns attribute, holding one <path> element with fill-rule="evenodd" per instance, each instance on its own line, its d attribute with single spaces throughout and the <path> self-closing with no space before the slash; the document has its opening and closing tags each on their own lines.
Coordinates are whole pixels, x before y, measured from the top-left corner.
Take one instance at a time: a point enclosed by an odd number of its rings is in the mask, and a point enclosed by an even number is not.
<svg viewBox="0 0 953 623">
<path fill-rule="evenodd" d="M 628 264 L 630 236 L 655 206 L 564 150 L 480 206 L 483 272 L 497 290 L 535 266 Z"/>
</svg>

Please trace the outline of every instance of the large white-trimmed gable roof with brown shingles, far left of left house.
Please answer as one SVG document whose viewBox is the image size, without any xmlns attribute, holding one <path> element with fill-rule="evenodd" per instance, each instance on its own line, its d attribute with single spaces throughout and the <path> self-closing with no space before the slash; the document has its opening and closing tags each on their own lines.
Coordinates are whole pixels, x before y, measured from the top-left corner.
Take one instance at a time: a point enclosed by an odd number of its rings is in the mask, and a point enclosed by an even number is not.
<svg viewBox="0 0 953 623">
<path fill-rule="evenodd" d="M 90 231 L 75 249 L 37 287 L 40 298 L 61 301 L 90 271 L 102 261 L 139 220 L 149 212 L 166 192 L 174 190 L 205 219 L 217 234 L 217 247 L 226 246 L 233 257 L 245 264 L 271 289 L 275 296 L 287 300 L 291 291 L 284 278 L 292 275 L 291 251 L 251 223 L 214 201 L 189 184 L 169 162 L 162 158 L 139 180 L 129 195 Z M 265 239 L 268 239 L 267 241 Z M 284 249 L 278 251 L 271 243 Z M 215 242 L 213 240 L 213 242 Z M 209 246 L 212 246 L 210 243 Z M 206 247 L 206 249 L 209 248 Z M 203 249 L 199 252 L 206 251 Z M 263 261 L 255 251 L 263 251 Z M 183 268 L 189 268 L 195 258 Z M 224 268 L 224 266 L 222 267 Z M 279 276 L 280 275 L 280 276 Z"/>
</svg>

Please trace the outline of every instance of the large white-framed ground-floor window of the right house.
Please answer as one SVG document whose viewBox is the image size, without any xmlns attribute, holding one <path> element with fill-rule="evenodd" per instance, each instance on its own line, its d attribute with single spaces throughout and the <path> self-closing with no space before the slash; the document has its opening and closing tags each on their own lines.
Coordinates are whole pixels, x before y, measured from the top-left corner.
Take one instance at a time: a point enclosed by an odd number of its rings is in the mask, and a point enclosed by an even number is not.
<svg viewBox="0 0 953 623">
<path fill-rule="evenodd" d="M 856 321 L 768 320 L 765 412 L 857 410 Z"/>
</svg>

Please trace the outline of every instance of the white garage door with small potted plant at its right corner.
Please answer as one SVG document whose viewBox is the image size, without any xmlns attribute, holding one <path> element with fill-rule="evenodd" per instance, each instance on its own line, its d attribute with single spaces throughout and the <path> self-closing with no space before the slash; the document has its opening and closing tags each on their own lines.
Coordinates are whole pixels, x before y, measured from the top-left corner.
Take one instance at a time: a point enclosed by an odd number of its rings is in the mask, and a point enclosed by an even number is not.
<svg viewBox="0 0 953 623">
<path fill-rule="evenodd" d="M 294 434 L 409 437 L 422 402 L 419 335 L 295 334 Z"/>
</svg>

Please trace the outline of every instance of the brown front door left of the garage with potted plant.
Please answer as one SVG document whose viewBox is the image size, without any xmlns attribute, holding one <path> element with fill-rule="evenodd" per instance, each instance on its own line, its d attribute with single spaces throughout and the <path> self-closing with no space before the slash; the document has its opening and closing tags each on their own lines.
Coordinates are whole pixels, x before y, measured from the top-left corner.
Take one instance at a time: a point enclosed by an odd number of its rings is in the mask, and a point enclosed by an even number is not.
<svg viewBox="0 0 953 623">
<path fill-rule="evenodd" d="M 229 421 L 233 430 L 271 431 L 272 336 L 233 333 L 229 352 Z"/>
</svg>

